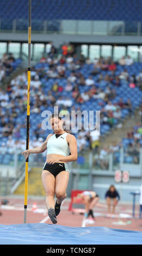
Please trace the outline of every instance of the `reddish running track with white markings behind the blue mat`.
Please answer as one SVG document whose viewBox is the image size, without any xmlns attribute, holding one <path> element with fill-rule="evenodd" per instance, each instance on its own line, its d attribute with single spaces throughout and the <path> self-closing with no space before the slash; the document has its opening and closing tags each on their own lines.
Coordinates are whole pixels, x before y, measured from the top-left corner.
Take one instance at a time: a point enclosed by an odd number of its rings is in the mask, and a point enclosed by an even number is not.
<svg viewBox="0 0 142 256">
<path fill-rule="evenodd" d="M 2 215 L 0 216 L 0 224 L 10 225 L 10 224 L 21 224 L 23 223 L 23 202 L 22 198 L 12 198 L 11 196 L 7 200 L 8 205 L 1 206 Z M 32 210 L 34 202 L 37 205 L 35 212 Z M 57 224 L 65 225 L 68 227 L 107 227 L 113 229 L 126 229 L 126 230 L 137 230 L 142 231 L 142 220 L 139 220 L 139 207 L 135 207 L 135 218 L 120 218 L 119 211 L 123 214 L 128 214 L 132 216 L 132 205 L 122 204 L 118 205 L 116 208 L 116 215 L 114 218 L 108 218 L 107 207 L 105 204 L 98 204 L 94 208 L 96 215 L 96 221 L 93 224 L 84 223 L 84 216 L 81 214 L 72 214 L 69 208 L 70 199 L 64 200 L 61 206 L 61 212 L 57 216 Z M 28 199 L 27 208 L 27 223 L 48 223 L 51 224 L 51 220 L 48 218 L 45 200 L 42 199 Z M 85 224 L 85 225 L 84 225 Z"/>
</svg>

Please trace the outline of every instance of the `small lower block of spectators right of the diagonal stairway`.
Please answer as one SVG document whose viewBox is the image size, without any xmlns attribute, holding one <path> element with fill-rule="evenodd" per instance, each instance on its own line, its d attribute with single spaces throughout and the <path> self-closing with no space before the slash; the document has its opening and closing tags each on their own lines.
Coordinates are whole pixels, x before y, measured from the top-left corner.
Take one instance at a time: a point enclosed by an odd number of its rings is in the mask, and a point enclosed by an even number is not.
<svg viewBox="0 0 142 256">
<path fill-rule="evenodd" d="M 139 164 L 140 148 L 142 145 L 142 125 L 141 122 L 128 130 L 127 137 L 121 141 L 114 141 L 110 147 L 104 145 L 94 156 L 94 166 L 96 168 L 108 169 L 109 156 L 113 154 L 113 164 L 120 163 L 120 149 L 124 149 L 124 163 Z"/>
</svg>

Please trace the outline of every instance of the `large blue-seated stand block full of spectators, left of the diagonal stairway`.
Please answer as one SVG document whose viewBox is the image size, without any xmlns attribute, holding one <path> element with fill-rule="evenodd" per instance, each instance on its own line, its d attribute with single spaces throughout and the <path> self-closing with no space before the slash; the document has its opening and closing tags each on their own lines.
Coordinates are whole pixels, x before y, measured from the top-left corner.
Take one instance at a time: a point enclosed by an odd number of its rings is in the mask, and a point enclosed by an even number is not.
<svg viewBox="0 0 142 256">
<path fill-rule="evenodd" d="M 30 143 L 34 145 L 42 143 L 51 132 L 41 128 L 41 113 L 47 109 L 53 112 L 54 106 L 58 106 L 59 111 L 63 113 L 74 109 L 100 110 L 101 135 L 121 124 L 126 117 L 133 117 L 134 109 L 141 104 L 141 70 L 142 64 L 133 63 L 129 57 L 125 58 L 122 65 L 121 59 L 114 63 L 111 58 L 101 57 L 92 62 L 82 56 L 77 58 L 74 52 L 60 58 L 52 53 L 42 56 L 31 71 Z M 25 144 L 26 73 L 11 81 L 7 93 L 1 92 L 0 103 L 0 157 L 8 163 L 13 156 L 7 154 L 3 158 L 4 146 L 12 140 L 16 142 L 11 143 L 13 147 L 22 150 Z M 6 117 L 5 113 L 7 113 Z M 82 129 L 79 132 L 73 130 L 71 132 L 78 138 L 78 151 L 82 151 L 84 146 L 96 149 L 100 145 L 99 136 L 95 141 L 95 147 L 94 141 L 90 143 L 92 131 Z M 117 157 L 119 159 L 119 155 Z"/>
</svg>

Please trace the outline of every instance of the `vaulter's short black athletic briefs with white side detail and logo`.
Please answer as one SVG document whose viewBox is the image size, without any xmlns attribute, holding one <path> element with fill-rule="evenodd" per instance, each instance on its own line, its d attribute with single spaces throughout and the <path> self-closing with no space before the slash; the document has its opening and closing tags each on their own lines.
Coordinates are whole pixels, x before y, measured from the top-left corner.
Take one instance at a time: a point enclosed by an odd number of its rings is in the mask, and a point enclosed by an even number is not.
<svg viewBox="0 0 142 256">
<path fill-rule="evenodd" d="M 52 173 L 54 177 L 56 177 L 58 173 L 68 169 L 67 169 L 66 163 L 53 163 L 53 164 L 45 163 L 43 170 L 48 170 L 48 172 Z"/>
</svg>

